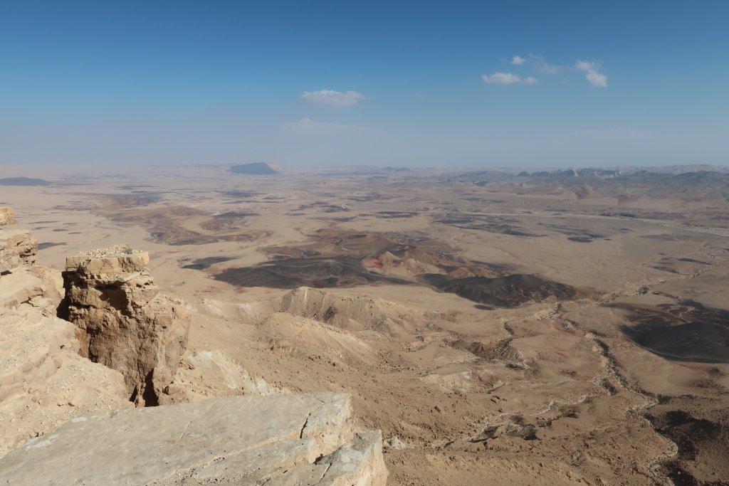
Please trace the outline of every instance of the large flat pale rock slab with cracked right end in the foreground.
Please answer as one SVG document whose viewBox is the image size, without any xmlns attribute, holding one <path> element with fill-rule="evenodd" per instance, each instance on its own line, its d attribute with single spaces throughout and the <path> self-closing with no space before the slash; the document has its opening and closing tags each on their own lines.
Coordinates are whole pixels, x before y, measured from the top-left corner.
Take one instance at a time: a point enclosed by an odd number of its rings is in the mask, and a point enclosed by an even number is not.
<svg viewBox="0 0 729 486">
<path fill-rule="evenodd" d="M 93 412 L 0 459 L 7 485 L 384 485 L 379 431 L 346 394 L 235 396 Z"/>
</svg>

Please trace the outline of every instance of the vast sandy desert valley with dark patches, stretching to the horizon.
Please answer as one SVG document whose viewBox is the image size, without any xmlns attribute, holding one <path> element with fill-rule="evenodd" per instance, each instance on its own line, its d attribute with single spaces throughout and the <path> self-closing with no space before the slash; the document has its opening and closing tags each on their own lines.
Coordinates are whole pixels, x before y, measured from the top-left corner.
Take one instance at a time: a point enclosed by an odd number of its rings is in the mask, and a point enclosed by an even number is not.
<svg viewBox="0 0 729 486">
<path fill-rule="evenodd" d="M 90 371 L 137 405 L 348 393 L 391 485 L 728 484 L 727 174 L 226 169 L 0 186 L 38 264 L 125 243 L 185 308 L 168 385 Z"/>
</svg>

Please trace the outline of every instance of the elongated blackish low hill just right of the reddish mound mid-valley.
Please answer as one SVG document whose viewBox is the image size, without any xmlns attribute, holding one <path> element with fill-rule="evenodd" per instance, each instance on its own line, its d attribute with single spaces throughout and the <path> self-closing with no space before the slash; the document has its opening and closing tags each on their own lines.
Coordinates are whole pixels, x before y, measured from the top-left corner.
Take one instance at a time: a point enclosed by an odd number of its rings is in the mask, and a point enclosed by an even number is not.
<svg viewBox="0 0 729 486">
<path fill-rule="evenodd" d="M 496 307 L 518 307 L 526 302 L 550 298 L 572 299 L 577 294 L 575 289 L 564 283 L 548 281 L 537 275 L 452 278 L 448 275 L 428 273 L 420 275 L 418 280 L 439 291 Z"/>
</svg>

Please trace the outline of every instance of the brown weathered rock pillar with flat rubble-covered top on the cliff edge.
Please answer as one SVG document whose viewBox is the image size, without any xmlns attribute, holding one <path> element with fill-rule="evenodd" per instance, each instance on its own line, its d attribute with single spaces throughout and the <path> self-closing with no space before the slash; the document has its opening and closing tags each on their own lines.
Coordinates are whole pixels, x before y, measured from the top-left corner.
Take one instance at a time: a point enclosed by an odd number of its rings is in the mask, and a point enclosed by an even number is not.
<svg viewBox="0 0 729 486">
<path fill-rule="evenodd" d="M 121 372 L 138 406 L 159 404 L 190 331 L 184 302 L 160 294 L 148 264 L 126 245 L 69 256 L 58 310 L 76 324 L 82 356 Z"/>
</svg>

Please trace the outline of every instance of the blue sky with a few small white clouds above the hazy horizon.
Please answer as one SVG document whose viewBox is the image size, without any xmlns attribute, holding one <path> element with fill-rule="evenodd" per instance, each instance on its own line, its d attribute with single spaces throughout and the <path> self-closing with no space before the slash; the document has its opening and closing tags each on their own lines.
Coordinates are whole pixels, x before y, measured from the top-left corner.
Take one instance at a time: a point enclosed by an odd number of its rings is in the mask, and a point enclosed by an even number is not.
<svg viewBox="0 0 729 486">
<path fill-rule="evenodd" d="M 727 165 L 728 19 L 727 1 L 4 0 L 0 164 Z"/>
</svg>

